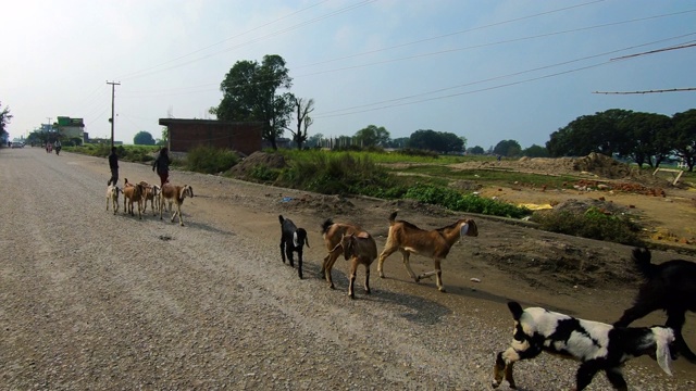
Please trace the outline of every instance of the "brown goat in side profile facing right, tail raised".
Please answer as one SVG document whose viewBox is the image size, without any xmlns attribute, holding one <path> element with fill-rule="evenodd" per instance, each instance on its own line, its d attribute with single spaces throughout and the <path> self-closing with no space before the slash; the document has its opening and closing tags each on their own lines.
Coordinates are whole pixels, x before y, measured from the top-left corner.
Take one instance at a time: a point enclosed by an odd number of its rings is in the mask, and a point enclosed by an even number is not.
<svg viewBox="0 0 696 391">
<path fill-rule="evenodd" d="M 396 214 L 397 212 L 394 212 L 389 215 L 389 234 L 387 235 L 387 242 L 384 245 L 384 250 L 382 251 L 382 254 L 380 254 L 380 261 L 377 262 L 377 273 L 380 273 L 380 277 L 384 278 L 384 260 L 398 250 L 401 252 L 406 270 L 415 282 L 419 282 L 421 278 L 435 275 L 437 289 L 440 292 L 445 292 L 442 278 L 443 273 L 440 270 L 439 263 L 447 256 L 449 249 L 457 242 L 457 240 L 464 236 L 478 236 L 476 223 L 473 219 L 461 218 L 455 224 L 427 231 L 411 223 L 395 220 Z M 411 253 L 432 257 L 433 263 L 435 264 L 435 270 L 415 276 L 411 269 L 411 265 L 409 264 L 409 256 Z"/>
</svg>

